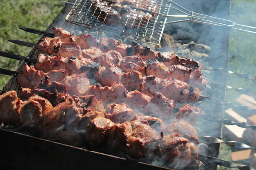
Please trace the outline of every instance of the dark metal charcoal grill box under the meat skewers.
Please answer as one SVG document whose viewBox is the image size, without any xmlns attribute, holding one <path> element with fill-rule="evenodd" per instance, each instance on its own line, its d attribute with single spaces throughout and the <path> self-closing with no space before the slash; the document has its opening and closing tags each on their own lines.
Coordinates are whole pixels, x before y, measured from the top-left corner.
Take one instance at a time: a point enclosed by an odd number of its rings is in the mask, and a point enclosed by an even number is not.
<svg viewBox="0 0 256 170">
<path fill-rule="evenodd" d="M 76 3 L 75 0 L 70 0 L 70 3 Z M 185 3 L 185 2 L 183 2 Z M 198 1 L 197 3 L 202 3 Z M 225 0 L 225 19 L 229 19 L 230 15 L 230 1 Z M 186 6 L 186 5 L 184 5 Z M 72 6 L 66 5 L 60 14 L 55 18 L 53 23 L 47 28 L 47 32 L 52 32 L 52 26 L 61 27 L 66 30 L 80 30 L 81 26 L 74 25 L 72 22 L 66 22 L 66 19 L 70 19 L 70 10 Z M 217 10 L 217 9 L 216 9 Z M 204 13 L 204 11 L 201 11 Z M 166 11 L 168 13 L 168 11 Z M 79 14 L 77 13 L 77 16 Z M 67 18 L 68 17 L 68 18 Z M 223 16 L 222 16 L 223 17 Z M 77 19 L 77 18 L 76 18 Z M 82 19 L 82 18 L 80 18 Z M 95 21 L 96 22 L 96 21 Z M 91 23 L 90 23 L 91 24 Z M 90 25 L 89 24 L 89 25 Z M 195 28 L 197 25 L 193 25 Z M 204 32 L 205 34 L 212 32 L 221 32 L 222 33 L 222 46 L 221 47 L 213 47 L 212 51 L 218 51 L 219 54 L 213 52 L 212 56 L 221 56 L 222 57 L 212 57 L 212 60 L 207 63 L 202 63 L 204 65 L 209 65 L 209 63 L 217 64 L 220 68 L 228 69 L 228 38 L 229 38 L 229 30 L 224 28 L 211 28 L 207 26 L 207 30 Z M 108 29 L 108 28 L 105 28 Z M 100 30 L 97 30 L 100 31 Z M 134 29 L 135 31 L 135 29 Z M 136 31 L 140 31 L 140 28 Z M 151 32 L 152 33 L 152 32 Z M 135 33 L 139 34 L 139 33 Z M 163 34 L 163 32 L 161 33 Z M 214 37 L 215 34 L 209 34 L 208 38 L 205 39 L 205 44 L 207 42 L 211 42 L 212 39 L 217 39 L 218 37 Z M 45 35 L 42 35 L 41 38 L 44 38 Z M 28 58 L 24 59 L 20 64 L 16 72 L 21 72 L 21 68 L 24 62 L 28 62 L 28 59 L 36 59 L 38 57 L 38 49 L 33 47 L 30 53 L 28 54 Z M 217 55 L 215 55 L 217 54 Z M 32 61 L 32 60 L 31 60 Z M 211 66 L 211 65 L 209 65 Z M 1 72 L 3 73 L 3 72 Z M 17 78 L 13 73 L 6 72 L 5 74 L 12 74 L 12 77 L 6 83 L 3 91 L 17 91 L 19 86 L 17 84 Z M 226 84 L 227 80 L 227 72 L 223 71 L 220 74 L 216 75 L 214 72 L 211 72 L 210 75 L 212 82 L 220 82 Z M 213 99 L 220 99 L 224 101 L 225 98 L 225 88 L 215 88 L 212 90 L 212 94 L 210 97 Z M 216 105 L 213 103 L 206 102 L 197 102 L 195 103 L 199 108 L 202 108 L 205 113 L 212 113 L 213 116 L 218 118 L 223 117 L 224 105 Z M 207 127 L 207 122 L 202 122 L 202 126 Z M 207 136 L 214 136 L 215 138 L 221 139 L 222 134 L 222 126 L 221 122 L 215 122 L 212 124 L 215 126 L 214 131 L 203 131 L 202 134 L 206 134 Z M 48 141 L 45 139 L 39 139 L 33 136 L 29 136 L 26 134 L 21 134 L 18 132 L 0 129 L 1 139 L 1 150 L 2 154 L 0 156 L 0 167 L 8 167 L 13 169 L 33 169 L 37 167 L 38 169 L 78 169 L 78 168 L 88 168 L 88 169 L 166 169 L 164 167 L 158 167 L 151 164 L 146 164 L 138 161 L 131 160 L 129 158 L 121 158 L 117 156 L 111 156 L 106 153 L 99 153 L 95 151 L 85 150 L 82 148 L 71 147 L 65 144 L 60 144 L 52 141 Z M 202 135 L 201 135 L 202 136 Z M 207 153 L 209 156 L 218 157 L 220 151 L 219 143 L 212 143 L 208 145 L 210 150 Z M 200 156 L 199 156 L 200 157 Z M 203 158 L 202 158 L 203 157 Z M 21 159 L 22 158 L 22 159 Z M 206 157 L 201 156 L 201 159 Z M 207 163 L 208 162 L 208 163 Z M 215 162 L 216 164 L 212 164 Z M 204 162 L 204 165 L 208 169 L 217 169 L 217 164 L 223 164 L 223 162 L 218 162 L 214 158 L 207 159 Z M 225 164 L 225 163 L 224 163 Z M 226 165 L 228 163 L 226 162 Z M 40 166 L 38 166 L 40 165 Z M 235 165 L 227 165 L 227 166 L 235 166 Z M 241 167 L 243 169 L 243 167 Z"/>
</svg>

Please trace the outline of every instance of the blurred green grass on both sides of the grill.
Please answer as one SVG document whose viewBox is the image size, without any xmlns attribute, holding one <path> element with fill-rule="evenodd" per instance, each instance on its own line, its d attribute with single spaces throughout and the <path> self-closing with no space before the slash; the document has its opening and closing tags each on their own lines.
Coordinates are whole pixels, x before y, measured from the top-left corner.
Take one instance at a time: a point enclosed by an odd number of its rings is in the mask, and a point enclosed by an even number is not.
<svg viewBox="0 0 256 170">
<path fill-rule="evenodd" d="M 39 35 L 29 34 L 18 26 L 45 30 L 64 6 L 61 0 L 1 0 L 0 3 L 0 51 L 26 56 L 31 48 L 14 45 L 8 39 L 36 42 Z M 249 26 L 256 26 L 253 11 L 256 0 L 232 0 L 231 20 Z M 230 54 L 239 58 L 230 61 L 230 71 L 256 74 L 256 35 L 241 31 L 230 31 Z M 20 62 L 14 59 L 0 57 L 0 68 L 15 70 Z M 0 75 L 0 89 L 3 88 L 9 76 Z M 247 79 L 234 75 L 228 77 L 227 84 L 234 88 L 247 88 L 256 93 L 256 84 Z M 234 102 L 239 93 L 227 91 L 226 101 Z M 227 146 L 221 147 L 222 159 L 231 160 L 231 150 Z M 227 169 L 221 167 L 222 170 Z"/>
</svg>

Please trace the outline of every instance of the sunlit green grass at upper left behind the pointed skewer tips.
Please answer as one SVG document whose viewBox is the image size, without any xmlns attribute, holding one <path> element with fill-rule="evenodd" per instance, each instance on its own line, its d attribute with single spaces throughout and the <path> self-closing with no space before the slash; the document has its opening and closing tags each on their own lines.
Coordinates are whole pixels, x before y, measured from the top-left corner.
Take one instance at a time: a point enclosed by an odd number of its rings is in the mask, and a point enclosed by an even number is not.
<svg viewBox="0 0 256 170">
<path fill-rule="evenodd" d="M 31 48 L 8 42 L 8 39 L 36 42 L 39 35 L 29 34 L 19 26 L 45 30 L 64 3 L 61 0 L 1 0 L 0 3 L 0 51 L 26 56 Z M 0 68 L 15 70 L 20 62 L 0 57 Z M 0 75 L 0 89 L 9 76 Z"/>
</svg>

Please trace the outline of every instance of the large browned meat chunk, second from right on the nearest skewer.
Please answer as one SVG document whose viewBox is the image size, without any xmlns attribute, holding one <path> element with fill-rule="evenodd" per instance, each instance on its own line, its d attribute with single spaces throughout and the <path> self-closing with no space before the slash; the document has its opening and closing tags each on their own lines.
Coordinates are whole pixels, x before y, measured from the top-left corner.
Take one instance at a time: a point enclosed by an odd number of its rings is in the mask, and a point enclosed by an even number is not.
<svg viewBox="0 0 256 170">
<path fill-rule="evenodd" d="M 128 155 L 140 159 L 148 153 L 154 153 L 157 149 L 157 142 L 160 139 L 157 131 L 148 124 L 136 120 L 132 121 L 131 125 L 133 131 L 128 139 L 130 146 L 127 150 Z"/>
</svg>

